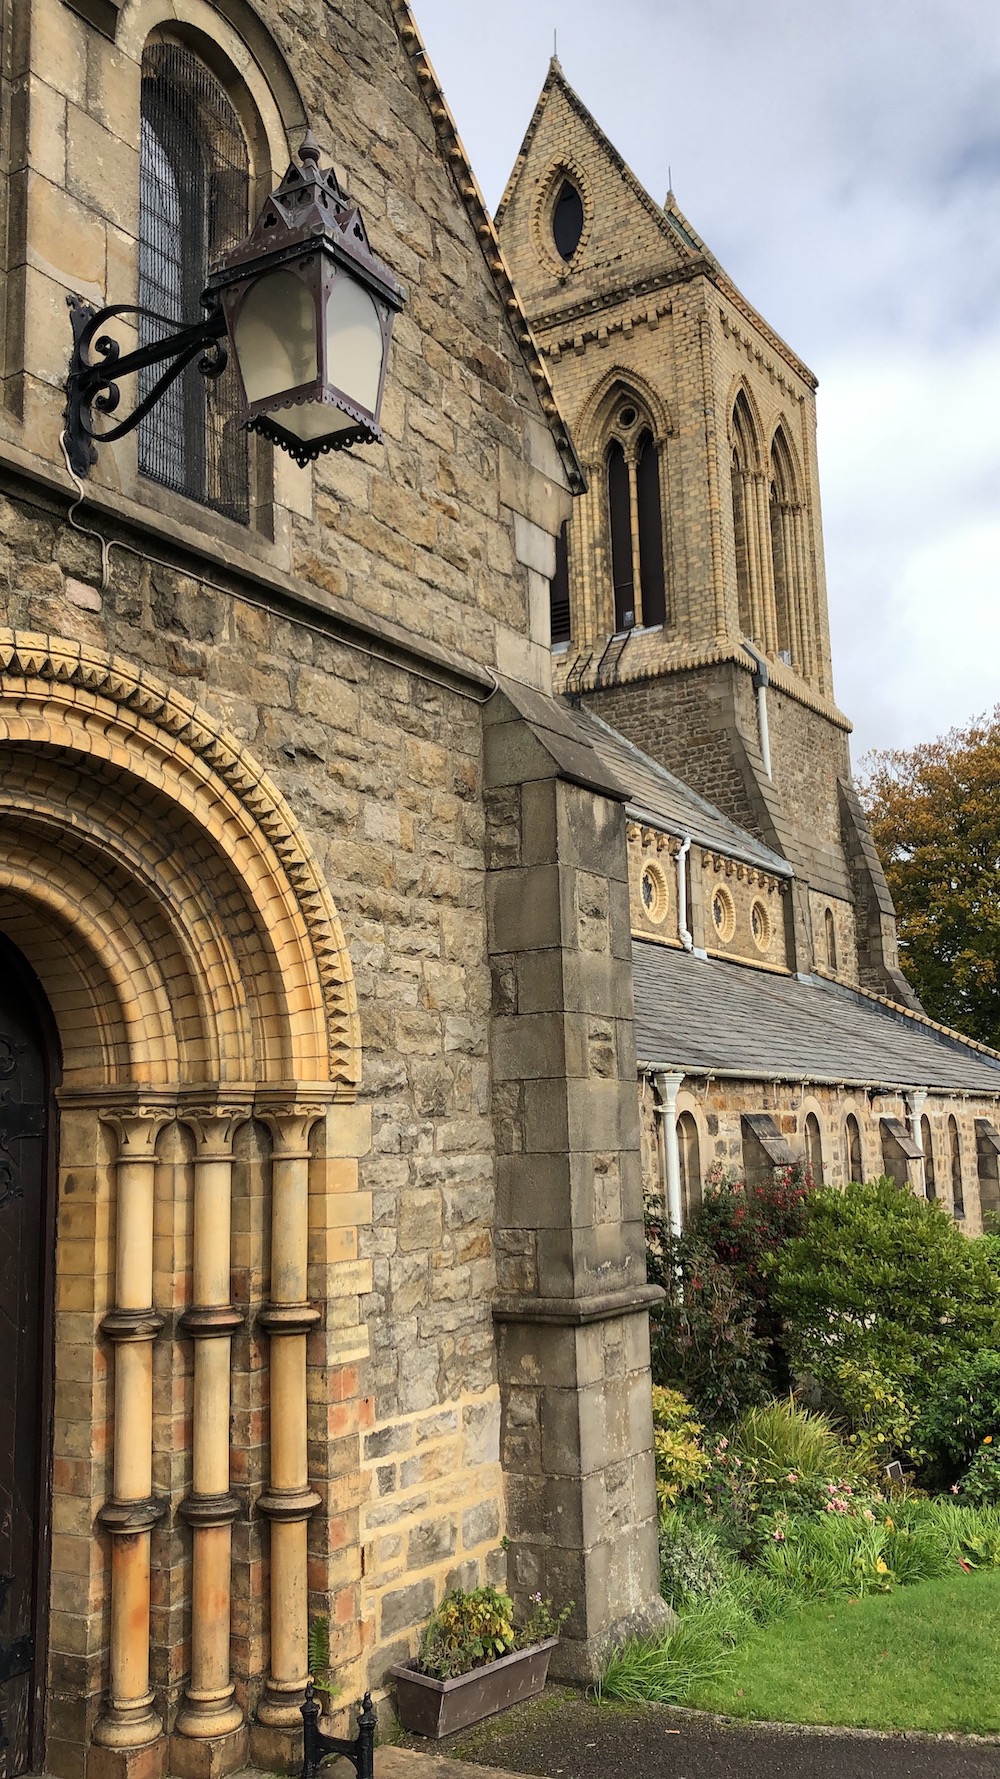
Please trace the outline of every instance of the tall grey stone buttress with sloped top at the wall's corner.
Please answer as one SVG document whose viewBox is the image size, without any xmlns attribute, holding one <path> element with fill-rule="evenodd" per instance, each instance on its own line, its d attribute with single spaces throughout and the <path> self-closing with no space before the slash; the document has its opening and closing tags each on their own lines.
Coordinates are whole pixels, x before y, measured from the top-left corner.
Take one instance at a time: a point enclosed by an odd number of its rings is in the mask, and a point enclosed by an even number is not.
<svg viewBox="0 0 1000 1779">
<path fill-rule="evenodd" d="M 502 1462 L 520 1610 L 593 1678 L 658 1598 L 625 792 L 571 719 L 486 704 Z M 593 777 L 593 788 L 580 779 Z"/>
</svg>

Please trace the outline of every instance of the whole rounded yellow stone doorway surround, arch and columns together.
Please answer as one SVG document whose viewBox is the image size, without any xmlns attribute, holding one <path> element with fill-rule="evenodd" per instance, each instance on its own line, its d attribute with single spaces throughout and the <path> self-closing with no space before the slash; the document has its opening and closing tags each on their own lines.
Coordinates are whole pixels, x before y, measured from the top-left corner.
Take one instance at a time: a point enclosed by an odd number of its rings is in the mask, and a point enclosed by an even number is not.
<svg viewBox="0 0 1000 1779">
<path fill-rule="evenodd" d="M 295 1724 L 308 1667 L 306 1336 L 326 1238 L 310 1252 L 310 1228 L 326 1226 L 324 1156 L 358 1153 L 351 961 L 278 788 L 142 669 L 0 632 L 0 932 L 62 1050 L 50 1699 L 62 1735 L 77 1713 L 78 1740 L 114 1751 L 157 1742 L 176 1708 L 178 1742 L 238 1761 L 247 1706 Z M 267 1432 L 244 1450 L 231 1416 L 262 1425 L 267 1377 Z M 258 1606 L 258 1653 L 235 1672 L 249 1500 L 251 1539 L 269 1523 L 270 1621 Z M 178 1567 L 183 1626 L 158 1599 Z"/>
</svg>

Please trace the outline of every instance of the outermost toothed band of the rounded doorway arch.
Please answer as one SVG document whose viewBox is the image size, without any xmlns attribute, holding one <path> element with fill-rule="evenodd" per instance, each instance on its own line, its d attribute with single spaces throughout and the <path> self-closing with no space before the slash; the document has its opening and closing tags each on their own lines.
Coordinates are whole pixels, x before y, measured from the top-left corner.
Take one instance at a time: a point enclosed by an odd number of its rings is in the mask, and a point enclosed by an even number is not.
<svg viewBox="0 0 1000 1779">
<path fill-rule="evenodd" d="M 244 806 L 279 865 L 274 888 L 310 939 L 324 996 L 331 1082 L 356 1087 L 358 1005 L 340 918 L 295 815 L 260 761 L 206 710 L 146 669 L 66 637 L 0 630 L 0 733 L 7 703 L 20 704 L 32 681 L 64 706 L 93 712 L 94 699 L 105 701 L 135 737 L 151 724 L 169 737 L 173 756 L 190 749 Z"/>
</svg>

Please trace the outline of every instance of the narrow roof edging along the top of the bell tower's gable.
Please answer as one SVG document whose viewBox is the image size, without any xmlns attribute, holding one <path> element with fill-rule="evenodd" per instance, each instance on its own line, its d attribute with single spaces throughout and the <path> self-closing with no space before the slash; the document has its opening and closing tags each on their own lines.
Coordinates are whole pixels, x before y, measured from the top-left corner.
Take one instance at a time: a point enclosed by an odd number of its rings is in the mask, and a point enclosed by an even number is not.
<svg viewBox="0 0 1000 1779">
<path fill-rule="evenodd" d="M 536 109 L 532 112 L 528 128 L 525 130 L 525 137 L 521 148 L 518 149 L 518 158 L 514 160 L 514 165 L 511 169 L 511 176 L 504 189 L 504 196 L 496 208 L 496 228 L 504 226 L 504 217 L 521 181 L 541 121 L 555 93 L 559 93 L 566 100 L 569 109 L 577 114 L 580 123 L 593 137 L 594 146 L 614 164 L 614 167 L 621 176 L 621 181 L 632 192 L 635 201 L 642 206 L 646 215 L 653 221 L 657 231 L 664 240 L 664 246 L 669 247 L 671 253 L 674 254 L 676 267 L 683 272 L 683 276 L 696 276 L 701 272 L 706 278 L 710 278 L 715 288 L 724 297 L 728 297 L 733 308 L 738 310 L 740 315 L 744 315 L 746 320 L 749 320 L 758 329 L 758 333 L 762 334 L 763 340 L 767 340 L 772 350 L 778 352 L 785 359 L 785 363 L 790 365 L 792 370 L 795 370 L 799 377 L 802 377 L 811 388 L 815 388 L 817 379 L 813 372 L 808 368 L 808 365 L 804 365 L 804 361 L 797 356 L 797 352 L 792 350 L 788 342 L 783 340 L 781 334 L 778 334 L 774 327 L 770 327 L 763 320 L 763 317 L 753 308 L 751 302 L 747 302 L 742 290 L 737 288 L 737 285 L 733 283 L 730 274 L 722 269 L 715 254 L 710 251 L 710 247 L 706 247 L 701 235 L 698 235 L 694 226 L 689 222 L 689 219 L 678 206 L 674 194 L 667 192 L 667 199 L 664 205 L 658 205 L 657 199 L 649 196 L 649 192 L 637 178 L 637 174 L 632 171 L 625 157 L 619 155 L 614 142 L 605 135 L 594 114 L 587 109 L 587 105 L 575 91 L 575 87 L 571 87 L 569 82 L 566 80 L 566 75 L 562 73 L 562 64 L 557 55 L 553 55 L 548 64 L 548 73 L 544 76 L 543 89 L 539 93 Z M 619 295 L 617 292 L 612 292 L 607 297 L 607 301 L 614 302 L 617 295 Z M 625 295 L 625 292 L 621 292 L 621 295 Z M 566 302 L 566 308 L 573 306 L 575 306 L 573 301 Z M 548 320 L 550 317 L 546 317 L 546 322 Z"/>
</svg>

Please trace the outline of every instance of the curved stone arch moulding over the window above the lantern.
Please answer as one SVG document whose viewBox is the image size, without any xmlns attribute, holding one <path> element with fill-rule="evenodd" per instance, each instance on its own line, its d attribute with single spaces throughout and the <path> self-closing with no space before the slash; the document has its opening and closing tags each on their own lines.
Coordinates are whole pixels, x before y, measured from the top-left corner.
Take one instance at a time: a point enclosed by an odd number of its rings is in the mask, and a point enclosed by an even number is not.
<svg viewBox="0 0 1000 1779">
<path fill-rule="evenodd" d="M 247 133 L 254 197 L 263 203 L 308 123 L 274 37 L 247 0 L 126 0 L 116 41 L 135 69 L 153 36 L 187 41 L 222 82 Z M 133 105 L 137 114 L 137 91 Z"/>
</svg>

